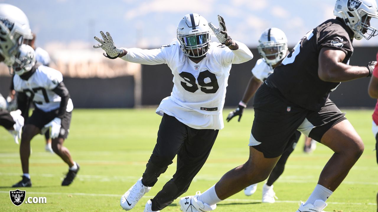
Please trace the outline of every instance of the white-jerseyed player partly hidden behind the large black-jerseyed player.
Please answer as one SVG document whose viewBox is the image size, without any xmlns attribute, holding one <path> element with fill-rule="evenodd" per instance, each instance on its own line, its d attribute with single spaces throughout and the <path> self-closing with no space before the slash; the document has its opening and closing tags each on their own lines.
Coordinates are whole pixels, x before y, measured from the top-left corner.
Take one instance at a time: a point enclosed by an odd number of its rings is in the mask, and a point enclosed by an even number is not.
<svg viewBox="0 0 378 212">
<path fill-rule="evenodd" d="M 283 58 L 289 54 L 287 47 L 287 38 L 285 33 L 278 28 L 266 29 L 260 36 L 259 45 L 257 50 L 260 54 L 260 59 L 256 61 L 256 65 L 252 69 L 252 77 L 249 80 L 248 86 L 245 89 L 242 100 L 239 102 L 239 106 L 235 111 L 231 111 L 227 117 L 227 121 L 230 121 L 235 116 L 239 115 L 239 120 L 242 118 L 243 110 L 247 107 L 247 102 L 256 93 L 257 88 L 265 81 L 265 79 L 273 73 L 273 69 L 281 64 Z M 280 160 L 277 162 L 273 171 L 269 175 L 268 180 L 263 185 L 262 189 L 262 202 L 263 203 L 274 203 L 276 193 L 273 190 L 273 183 L 280 177 L 285 169 L 286 161 L 294 151 L 296 144 L 298 143 L 301 133 L 296 131 L 293 135 L 290 145 L 286 151 L 282 154 Z M 244 194 L 249 196 L 254 194 L 257 189 L 257 183 L 252 184 L 244 189 Z"/>
</svg>

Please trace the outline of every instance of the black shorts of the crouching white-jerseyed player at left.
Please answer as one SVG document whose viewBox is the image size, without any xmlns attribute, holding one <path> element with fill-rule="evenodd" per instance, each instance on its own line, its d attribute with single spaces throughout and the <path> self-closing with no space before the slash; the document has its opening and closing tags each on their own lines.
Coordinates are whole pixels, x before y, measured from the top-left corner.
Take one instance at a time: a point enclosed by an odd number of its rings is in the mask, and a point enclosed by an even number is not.
<svg viewBox="0 0 378 212">
<path fill-rule="evenodd" d="M 32 124 L 39 129 L 42 129 L 45 124 L 48 124 L 52 121 L 58 114 L 59 109 L 50 111 L 50 112 L 43 112 L 38 108 L 35 108 L 31 117 L 26 120 L 26 124 Z M 60 133 L 58 138 L 66 139 L 68 133 L 70 132 L 70 123 L 71 123 L 71 116 L 72 112 L 65 112 L 64 117 L 62 118 L 62 123 L 60 124 Z"/>
</svg>

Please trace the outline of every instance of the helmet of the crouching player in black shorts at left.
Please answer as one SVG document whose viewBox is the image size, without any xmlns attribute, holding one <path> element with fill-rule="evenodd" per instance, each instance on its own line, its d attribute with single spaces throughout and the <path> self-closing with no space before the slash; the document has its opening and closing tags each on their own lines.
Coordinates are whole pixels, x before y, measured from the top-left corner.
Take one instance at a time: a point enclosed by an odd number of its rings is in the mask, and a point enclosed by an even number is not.
<svg viewBox="0 0 378 212">
<path fill-rule="evenodd" d="M 19 54 L 16 55 L 13 64 L 13 71 L 17 75 L 23 75 L 30 71 L 36 64 L 36 52 L 34 49 L 26 44 L 22 44 L 19 48 Z"/>
</svg>

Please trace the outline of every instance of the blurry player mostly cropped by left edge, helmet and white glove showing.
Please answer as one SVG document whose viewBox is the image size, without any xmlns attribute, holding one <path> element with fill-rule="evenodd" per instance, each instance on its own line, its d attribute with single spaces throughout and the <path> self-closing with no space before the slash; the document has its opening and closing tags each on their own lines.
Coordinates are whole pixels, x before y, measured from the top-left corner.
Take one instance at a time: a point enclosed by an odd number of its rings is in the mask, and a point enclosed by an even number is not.
<svg viewBox="0 0 378 212">
<path fill-rule="evenodd" d="M 19 8 L 0 4 L 0 62 L 11 66 L 15 61 L 15 54 L 23 39 L 32 38 L 29 20 Z M 0 108 L 0 125 L 7 129 L 19 142 L 23 126 L 23 118 L 18 112 L 9 112 Z"/>
</svg>

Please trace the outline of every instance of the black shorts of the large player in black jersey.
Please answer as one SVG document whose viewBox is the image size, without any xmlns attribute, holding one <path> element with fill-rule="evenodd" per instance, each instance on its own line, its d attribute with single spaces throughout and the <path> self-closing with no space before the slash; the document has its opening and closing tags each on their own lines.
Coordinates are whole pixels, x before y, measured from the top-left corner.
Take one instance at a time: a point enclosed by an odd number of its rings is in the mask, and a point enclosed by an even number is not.
<svg viewBox="0 0 378 212">
<path fill-rule="evenodd" d="M 329 99 L 319 111 L 311 111 L 285 100 L 276 88 L 265 83 L 255 94 L 254 111 L 249 146 L 265 158 L 282 155 L 296 130 L 321 142 L 328 129 L 346 119 Z"/>
</svg>

